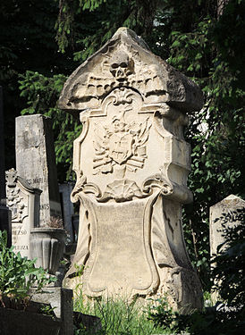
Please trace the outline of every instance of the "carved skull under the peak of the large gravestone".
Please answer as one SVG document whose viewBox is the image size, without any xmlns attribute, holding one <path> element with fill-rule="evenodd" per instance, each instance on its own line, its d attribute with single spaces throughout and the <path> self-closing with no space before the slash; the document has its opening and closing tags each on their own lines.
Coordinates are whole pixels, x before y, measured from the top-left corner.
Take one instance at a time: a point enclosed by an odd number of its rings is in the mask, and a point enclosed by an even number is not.
<svg viewBox="0 0 245 335">
<path fill-rule="evenodd" d="M 110 72 L 116 80 L 124 81 L 133 72 L 133 67 L 133 60 L 129 58 L 128 54 L 121 51 L 114 55 Z"/>
</svg>

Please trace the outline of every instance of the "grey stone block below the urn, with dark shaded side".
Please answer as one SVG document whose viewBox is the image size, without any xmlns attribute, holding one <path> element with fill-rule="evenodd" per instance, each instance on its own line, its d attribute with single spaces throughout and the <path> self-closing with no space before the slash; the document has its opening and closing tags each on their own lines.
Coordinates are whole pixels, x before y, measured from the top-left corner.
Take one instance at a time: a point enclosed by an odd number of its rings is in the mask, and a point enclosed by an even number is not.
<svg viewBox="0 0 245 335">
<path fill-rule="evenodd" d="M 44 288 L 42 293 L 35 293 L 33 289 L 31 300 L 55 308 L 55 316 L 62 322 L 60 335 L 73 335 L 72 296 L 72 289 Z"/>
</svg>

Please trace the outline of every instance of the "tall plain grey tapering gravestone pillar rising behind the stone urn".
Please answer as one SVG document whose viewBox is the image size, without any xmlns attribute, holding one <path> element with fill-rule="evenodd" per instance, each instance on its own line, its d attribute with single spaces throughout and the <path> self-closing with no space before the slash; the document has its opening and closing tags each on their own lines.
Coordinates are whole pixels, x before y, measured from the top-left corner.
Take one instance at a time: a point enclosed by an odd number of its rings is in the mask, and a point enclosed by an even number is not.
<svg viewBox="0 0 245 335">
<path fill-rule="evenodd" d="M 55 165 L 52 121 L 40 114 L 16 118 L 16 170 L 33 188 L 40 188 L 40 226 L 62 216 Z"/>
</svg>

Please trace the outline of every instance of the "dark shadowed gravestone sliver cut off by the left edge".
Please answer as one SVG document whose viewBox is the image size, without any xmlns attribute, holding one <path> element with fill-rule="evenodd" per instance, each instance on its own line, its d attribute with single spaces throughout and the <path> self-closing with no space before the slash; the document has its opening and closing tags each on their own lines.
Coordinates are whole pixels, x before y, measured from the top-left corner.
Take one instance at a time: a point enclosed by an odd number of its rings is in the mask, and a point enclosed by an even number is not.
<svg viewBox="0 0 245 335">
<path fill-rule="evenodd" d="M 4 104 L 0 86 L 0 230 L 7 231 L 7 246 L 11 247 L 11 211 L 6 206 L 4 155 Z"/>
</svg>

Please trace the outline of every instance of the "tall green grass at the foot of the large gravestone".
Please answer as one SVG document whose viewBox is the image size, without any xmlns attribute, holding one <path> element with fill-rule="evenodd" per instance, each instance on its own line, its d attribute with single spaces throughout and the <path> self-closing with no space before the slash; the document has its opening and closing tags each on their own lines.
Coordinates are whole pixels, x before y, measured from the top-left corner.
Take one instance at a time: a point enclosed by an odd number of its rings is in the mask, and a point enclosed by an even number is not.
<svg viewBox="0 0 245 335">
<path fill-rule="evenodd" d="M 150 335 L 170 334 L 171 331 L 163 331 L 156 328 L 153 322 L 148 320 L 147 307 L 142 311 L 137 304 L 129 304 L 123 299 L 102 299 L 85 303 L 82 296 L 74 300 L 74 310 L 83 314 L 92 314 L 100 318 L 102 330 L 89 332 L 82 325 L 75 331 L 76 335 Z"/>
</svg>

